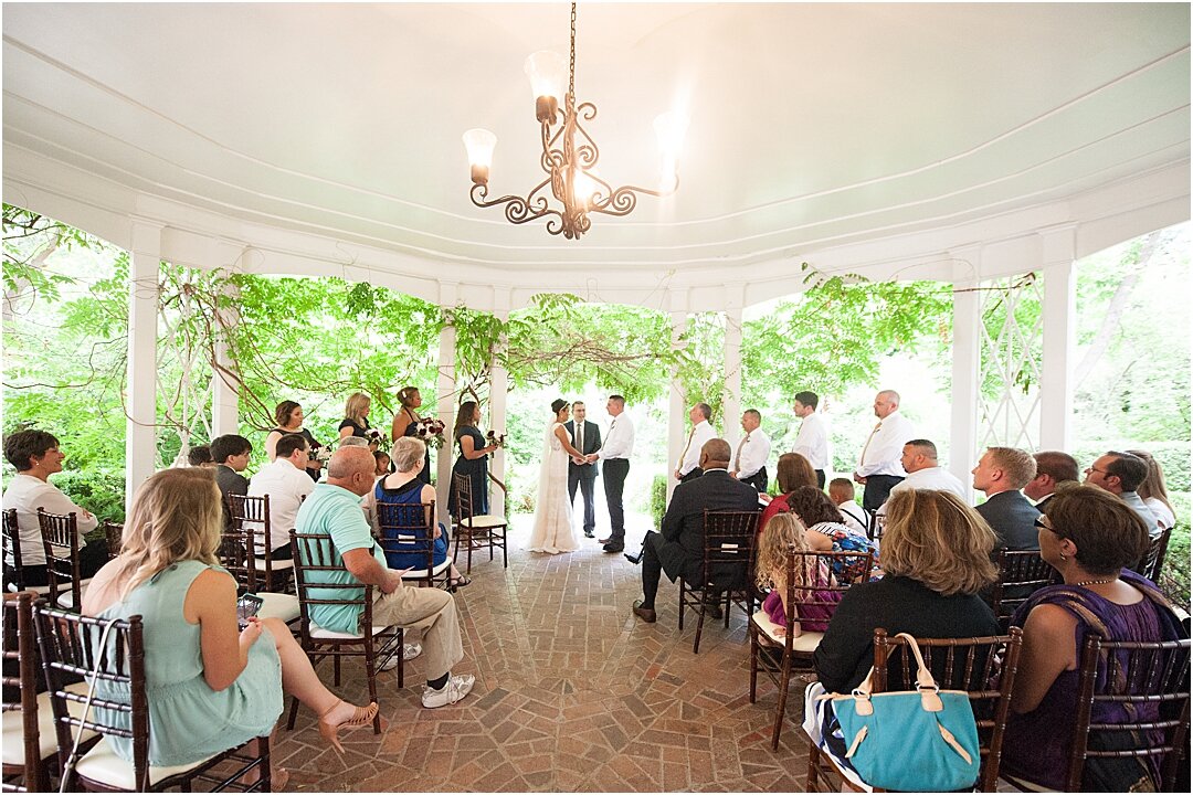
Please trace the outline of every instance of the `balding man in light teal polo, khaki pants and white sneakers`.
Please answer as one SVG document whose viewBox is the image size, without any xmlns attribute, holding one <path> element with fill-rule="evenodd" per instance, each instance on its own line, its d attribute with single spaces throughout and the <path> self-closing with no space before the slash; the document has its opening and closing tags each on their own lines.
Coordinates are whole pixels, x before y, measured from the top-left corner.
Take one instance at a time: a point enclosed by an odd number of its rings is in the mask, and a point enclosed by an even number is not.
<svg viewBox="0 0 1193 795">
<path fill-rule="evenodd" d="M 451 594 L 437 588 L 408 588 L 402 572 L 385 565 L 385 554 L 373 541 L 369 522 L 360 508 L 360 497 L 373 485 L 373 455 L 367 447 L 341 447 L 328 461 L 327 483 L 310 492 L 295 520 L 298 533 L 322 533 L 332 536 L 334 552 L 342 560 L 338 571 L 313 571 L 309 582 L 372 585 L 378 596 L 372 604 L 376 626 L 400 626 L 426 629 L 422 656 L 428 673 L 422 694 L 427 708 L 453 704 L 472 689 L 476 677 L 452 676 L 451 666 L 464 658 L 459 640 L 459 619 Z M 299 545 L 302 546 L 302 545 Z M 305 551 L 299 551 L 305 558 Z M 356 591 L 359 597 L 361 588 Z M 352 591 L 329 589 L 322 597 L 351 598 Z M 321 598 L 317 589 L 313 598 Z M 310 620 L 324 629 L 359 632 L 363 609 L 346 604 L 313 604 Z"/>
</svg>

